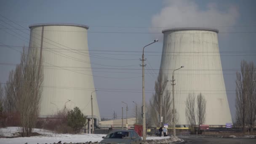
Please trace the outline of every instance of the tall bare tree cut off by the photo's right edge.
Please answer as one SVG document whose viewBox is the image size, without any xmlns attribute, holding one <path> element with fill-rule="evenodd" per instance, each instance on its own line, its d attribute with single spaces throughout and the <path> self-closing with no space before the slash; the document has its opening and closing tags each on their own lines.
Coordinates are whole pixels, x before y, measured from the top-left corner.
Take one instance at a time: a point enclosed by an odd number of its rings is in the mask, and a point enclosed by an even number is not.
<svg viewBox="0 0 256 144">
<path fill-rule="evenodd" d="M 251 61 L 247 65 L 247 88 L 246 88 L 246 95 L 247 95 L 247 122 L 251 130 L 251 134 L 253 132 L 253 126 L 256 122 L 256 82 L 254 81 L 256 79 L 256 67 L 253 64 L 253 61 Z"/>
</svg>

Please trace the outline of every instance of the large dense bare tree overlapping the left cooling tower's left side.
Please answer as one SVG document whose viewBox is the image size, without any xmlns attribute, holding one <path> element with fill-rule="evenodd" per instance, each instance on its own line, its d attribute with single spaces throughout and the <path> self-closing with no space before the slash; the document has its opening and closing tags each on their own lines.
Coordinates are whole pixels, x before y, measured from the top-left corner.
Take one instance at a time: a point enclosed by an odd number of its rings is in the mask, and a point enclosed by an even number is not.
<svg viewBox="0 0 256 144">
<path fill-rule="evenodd" d="M 5 86 L 5 108 L 9 112 L 18 112 L 21 118 L 21 136 L 30 136 L 39 113 L 42 91 L 42 58 L 38 49 L 21 53 L 21 62 L 10 72 Z"/>
</svg>

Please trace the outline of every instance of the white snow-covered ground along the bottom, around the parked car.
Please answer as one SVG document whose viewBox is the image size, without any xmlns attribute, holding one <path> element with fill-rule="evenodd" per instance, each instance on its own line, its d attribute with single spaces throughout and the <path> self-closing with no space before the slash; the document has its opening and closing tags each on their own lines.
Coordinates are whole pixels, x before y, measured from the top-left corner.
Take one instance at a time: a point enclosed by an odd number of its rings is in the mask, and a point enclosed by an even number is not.
<svg viewBox="0 0 256 144">
<path fill-rule="evenodd" d="M 2 136 L 13 136 L 13 133 L 19 132 L 19 127 L 7 127 L 0 128 L 0 135 Z M 19 137 L 19 138 L 0 138 L 0 144 L 45 144 L 45 143 L 78 143 L 87 141 L 101 141 L 102 136 L 106 134 L 57 134 L 52 131 L 34 129 L 33 132 L 41 133 L 43 136 L 31 136 L 31 137 Z M 147 140 L 159 140 L 159 139 L 169 139 L 169 136 L 159 137 L 159 136 L 148 136 Z"/>
</svg>

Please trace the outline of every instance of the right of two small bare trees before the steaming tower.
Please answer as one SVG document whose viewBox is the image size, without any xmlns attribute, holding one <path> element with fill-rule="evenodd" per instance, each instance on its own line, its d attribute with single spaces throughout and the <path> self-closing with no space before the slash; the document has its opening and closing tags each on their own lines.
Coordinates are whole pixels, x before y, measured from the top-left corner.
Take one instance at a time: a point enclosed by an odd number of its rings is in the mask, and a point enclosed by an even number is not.
<svg viewBox="0 0 256 144">
<path fill-rule="evenodd" d="M 200 132 L 200 125 L 205 123 L 205 115 L 206 115 L 206 100 L 205 97 L 200 93 L 197 95 L 197 123 L 198 123 L 198 134 Z"/>
</svg>

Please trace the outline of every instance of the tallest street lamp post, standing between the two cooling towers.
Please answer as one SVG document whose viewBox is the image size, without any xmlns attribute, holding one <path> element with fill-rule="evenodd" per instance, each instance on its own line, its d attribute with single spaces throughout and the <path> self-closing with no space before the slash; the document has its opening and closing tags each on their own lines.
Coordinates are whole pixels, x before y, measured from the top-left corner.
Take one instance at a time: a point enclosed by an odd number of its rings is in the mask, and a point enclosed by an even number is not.
<svg viewBox="0 0 256 144">
<path fill-rule="evenodd" d="M 145 45 L 144 48 L 146 46 L 149 46 L 153 43 L 156 43 L 158 42 L 158 39 L 154 40 L 154 42 L 152 43 L 149 43 L 148 45 Z M 145 117 L 145 76 L 144 76 L 144 48 L 143 48 L 143 51 L 142 51 L 142 119 L 143 119 L 143 140 L 145 141 L 146 140 L 146 117 Z"/>
</svg>

